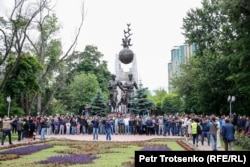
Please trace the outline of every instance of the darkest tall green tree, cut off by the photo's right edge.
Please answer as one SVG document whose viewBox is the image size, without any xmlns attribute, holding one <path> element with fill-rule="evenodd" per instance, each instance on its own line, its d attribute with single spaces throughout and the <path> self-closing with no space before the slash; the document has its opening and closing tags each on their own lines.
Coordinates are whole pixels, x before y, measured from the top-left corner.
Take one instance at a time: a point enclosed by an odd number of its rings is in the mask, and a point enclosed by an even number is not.
<svg viewBox="0 0 250 167">
<path fill-rule="evenodd" d="M 224 0 L 221 13 L 228 18 L 224 30 L 230 46 L 227 58 L 231 72 L 227 80 L 235 83 L 232 92 L 236 96 L 237 110 L 247 114 L 250 105 L 250 2 L 248 0 Z M 237 105 L 238 101 L 238 105 Z"/>
</svg>

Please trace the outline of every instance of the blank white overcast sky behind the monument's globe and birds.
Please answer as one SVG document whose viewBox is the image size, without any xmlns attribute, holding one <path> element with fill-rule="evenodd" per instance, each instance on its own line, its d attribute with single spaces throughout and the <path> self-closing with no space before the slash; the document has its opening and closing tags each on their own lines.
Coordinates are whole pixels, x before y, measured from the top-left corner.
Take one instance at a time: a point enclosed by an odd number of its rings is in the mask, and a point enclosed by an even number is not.
<svg viewBox="0 0 250 167">
<path fill-rule="evenodd" d="M 66 50 L 80 24 L 83 1 L 57 1 L 56 11 Z M 184 43 L 182 19 L 190 8 L 200 7 L 201 1 L 85 0 L 86 15 L 76 50 L 84 51 L 86 45 L 97 46 L 104 54 L 103 59 L 108 61 L 109 70 L 114 73 L 115 56 L 122 49 L 123 30 L 127 29 L 127 23 L 131 23 L 133 46 L 130 49 L 136 55 L 139 80 L 149 90 L 167 90 L 171 49 Z"/>
</svg>

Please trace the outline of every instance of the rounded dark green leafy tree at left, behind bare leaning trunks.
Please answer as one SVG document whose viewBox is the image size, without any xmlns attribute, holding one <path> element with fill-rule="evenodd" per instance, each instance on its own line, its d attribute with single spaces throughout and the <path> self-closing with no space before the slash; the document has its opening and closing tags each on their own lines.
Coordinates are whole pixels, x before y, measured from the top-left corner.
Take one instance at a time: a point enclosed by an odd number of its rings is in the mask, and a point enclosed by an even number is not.
<svg viewBox="0 0 250 167">
<path fill-rule="evenodd" d="M 8 60 L 7 70 L 14 65 L 15 57 Z M 29 115 L 29 97 L 41 91 L 38 83 L 41 69 L 42 66 L 35 56 L 23 54 L 4 87 L 4 94 L 11 97 L 12 103 L 15 101 L 14 104 L 19 104 L 16 107 L 22 108 L 26 115 Z"/>
</svg>

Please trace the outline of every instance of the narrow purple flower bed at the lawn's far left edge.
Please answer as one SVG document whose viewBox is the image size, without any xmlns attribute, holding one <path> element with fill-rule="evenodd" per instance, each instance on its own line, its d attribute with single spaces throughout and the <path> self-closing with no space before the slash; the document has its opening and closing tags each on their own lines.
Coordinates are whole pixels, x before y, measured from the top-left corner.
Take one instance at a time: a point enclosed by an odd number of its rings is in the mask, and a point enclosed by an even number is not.
<svg viewBox="0 0 250 167">
<path fill-rule="evenodd" d="M 28 155 L 34 152 L 38 152 L 43 149 L 51 148 L 53 145 L 43 144 L 43 145 L 30 145 L 27 147 L 14 148 L 0 152 L 0 154 L 17 154 L 17 155 Z"/>
</svg>

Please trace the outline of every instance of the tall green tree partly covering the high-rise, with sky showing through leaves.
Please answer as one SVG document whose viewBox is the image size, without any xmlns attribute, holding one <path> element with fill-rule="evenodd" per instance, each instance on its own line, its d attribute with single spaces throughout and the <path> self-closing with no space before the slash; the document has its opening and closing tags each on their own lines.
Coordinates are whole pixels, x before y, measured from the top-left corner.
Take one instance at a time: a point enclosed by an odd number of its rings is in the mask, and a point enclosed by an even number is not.
<svg viewBox="0 0 250 167">
<path fill-rule="evenodd" d="M 185 75 L 173 79 L 186 109 L 201 113 L 225 113 L 229 94 L 238 94 L 234 82 L 228 80 L 232 51 L 228 39 L 228 16 L 222 13 L 223 0 L 203 0 L 202 7 L 191 9 L 183 19 L 188 44 L 196 45 L 193 58 L 184 65 Z M 227 31 L 227 33 L 226 33 Z"/>
</svg>

